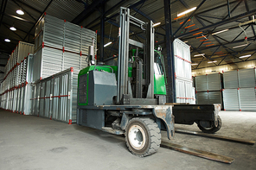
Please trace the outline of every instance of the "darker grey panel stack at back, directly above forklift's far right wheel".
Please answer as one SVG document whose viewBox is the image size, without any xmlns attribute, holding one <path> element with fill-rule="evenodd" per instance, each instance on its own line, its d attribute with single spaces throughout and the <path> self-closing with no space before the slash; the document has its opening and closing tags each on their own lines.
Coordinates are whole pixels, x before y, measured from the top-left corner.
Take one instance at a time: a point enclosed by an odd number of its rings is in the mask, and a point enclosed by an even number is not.
<svg viewBox="0 0 256 170">
<path fill-rule="evenodd" d="M 222 75 L 206 74 L 195 77 L 196 104 L 221 104 Z"/>
</svg>

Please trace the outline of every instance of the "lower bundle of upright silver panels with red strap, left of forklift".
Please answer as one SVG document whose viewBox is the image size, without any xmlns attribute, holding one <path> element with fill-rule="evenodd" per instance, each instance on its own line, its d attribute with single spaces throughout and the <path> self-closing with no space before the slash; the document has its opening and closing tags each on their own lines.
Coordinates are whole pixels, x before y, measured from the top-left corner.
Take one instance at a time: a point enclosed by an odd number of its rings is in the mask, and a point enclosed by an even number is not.
<svg viewBox="0 0 256 170">
<path fill-rule="evenodd" d="M 66 123 L 76 122 L 77 78 L 74 69 L 35 82 L 32 87 L 31 114 Z"/>
</svg>

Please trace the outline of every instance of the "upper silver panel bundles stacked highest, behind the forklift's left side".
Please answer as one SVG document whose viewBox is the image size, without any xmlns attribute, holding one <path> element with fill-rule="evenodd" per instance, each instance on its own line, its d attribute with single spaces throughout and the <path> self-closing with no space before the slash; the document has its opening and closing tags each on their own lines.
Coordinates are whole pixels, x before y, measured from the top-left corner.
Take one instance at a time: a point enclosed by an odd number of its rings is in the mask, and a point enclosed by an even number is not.
<svg viewBox="0 0 256 170">
<path fill-rule="evenodd" d="M 86 66 L 88 47 L 94 45 L 94 31 L 45 15 L 35 28 L 34 81 L 74 67 L 74 74 Z"/>
</svg>

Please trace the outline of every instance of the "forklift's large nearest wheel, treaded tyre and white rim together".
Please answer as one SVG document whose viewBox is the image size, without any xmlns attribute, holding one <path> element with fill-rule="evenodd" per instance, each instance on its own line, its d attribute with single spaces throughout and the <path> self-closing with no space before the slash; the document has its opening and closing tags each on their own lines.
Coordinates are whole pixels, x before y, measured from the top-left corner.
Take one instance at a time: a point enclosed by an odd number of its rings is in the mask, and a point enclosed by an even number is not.
<svg viewBox="0 0 256 170">
<path fill-rule="evenodd" d="M 131 153 L 139 157 L 154 154 L 161 143 L 160 129 L 150 118 L 132 118 L 125 129 L 125 142 Z"/>
</svg>

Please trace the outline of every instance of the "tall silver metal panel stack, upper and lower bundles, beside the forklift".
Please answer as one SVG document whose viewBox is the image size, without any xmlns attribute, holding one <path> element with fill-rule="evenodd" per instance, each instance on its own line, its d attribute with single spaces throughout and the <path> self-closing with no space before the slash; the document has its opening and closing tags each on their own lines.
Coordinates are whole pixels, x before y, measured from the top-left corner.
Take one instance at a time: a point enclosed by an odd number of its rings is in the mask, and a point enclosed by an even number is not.
<svg viewBox="0 0 256 170">
<path fill-rule="evenodd" d="M 96 38 L 92 30 L 42 16 L 35 30 L 32 114 L 75 122 L 77 77 L 88 66 L 89 46 L 96 51 Z"/>
</svg>

